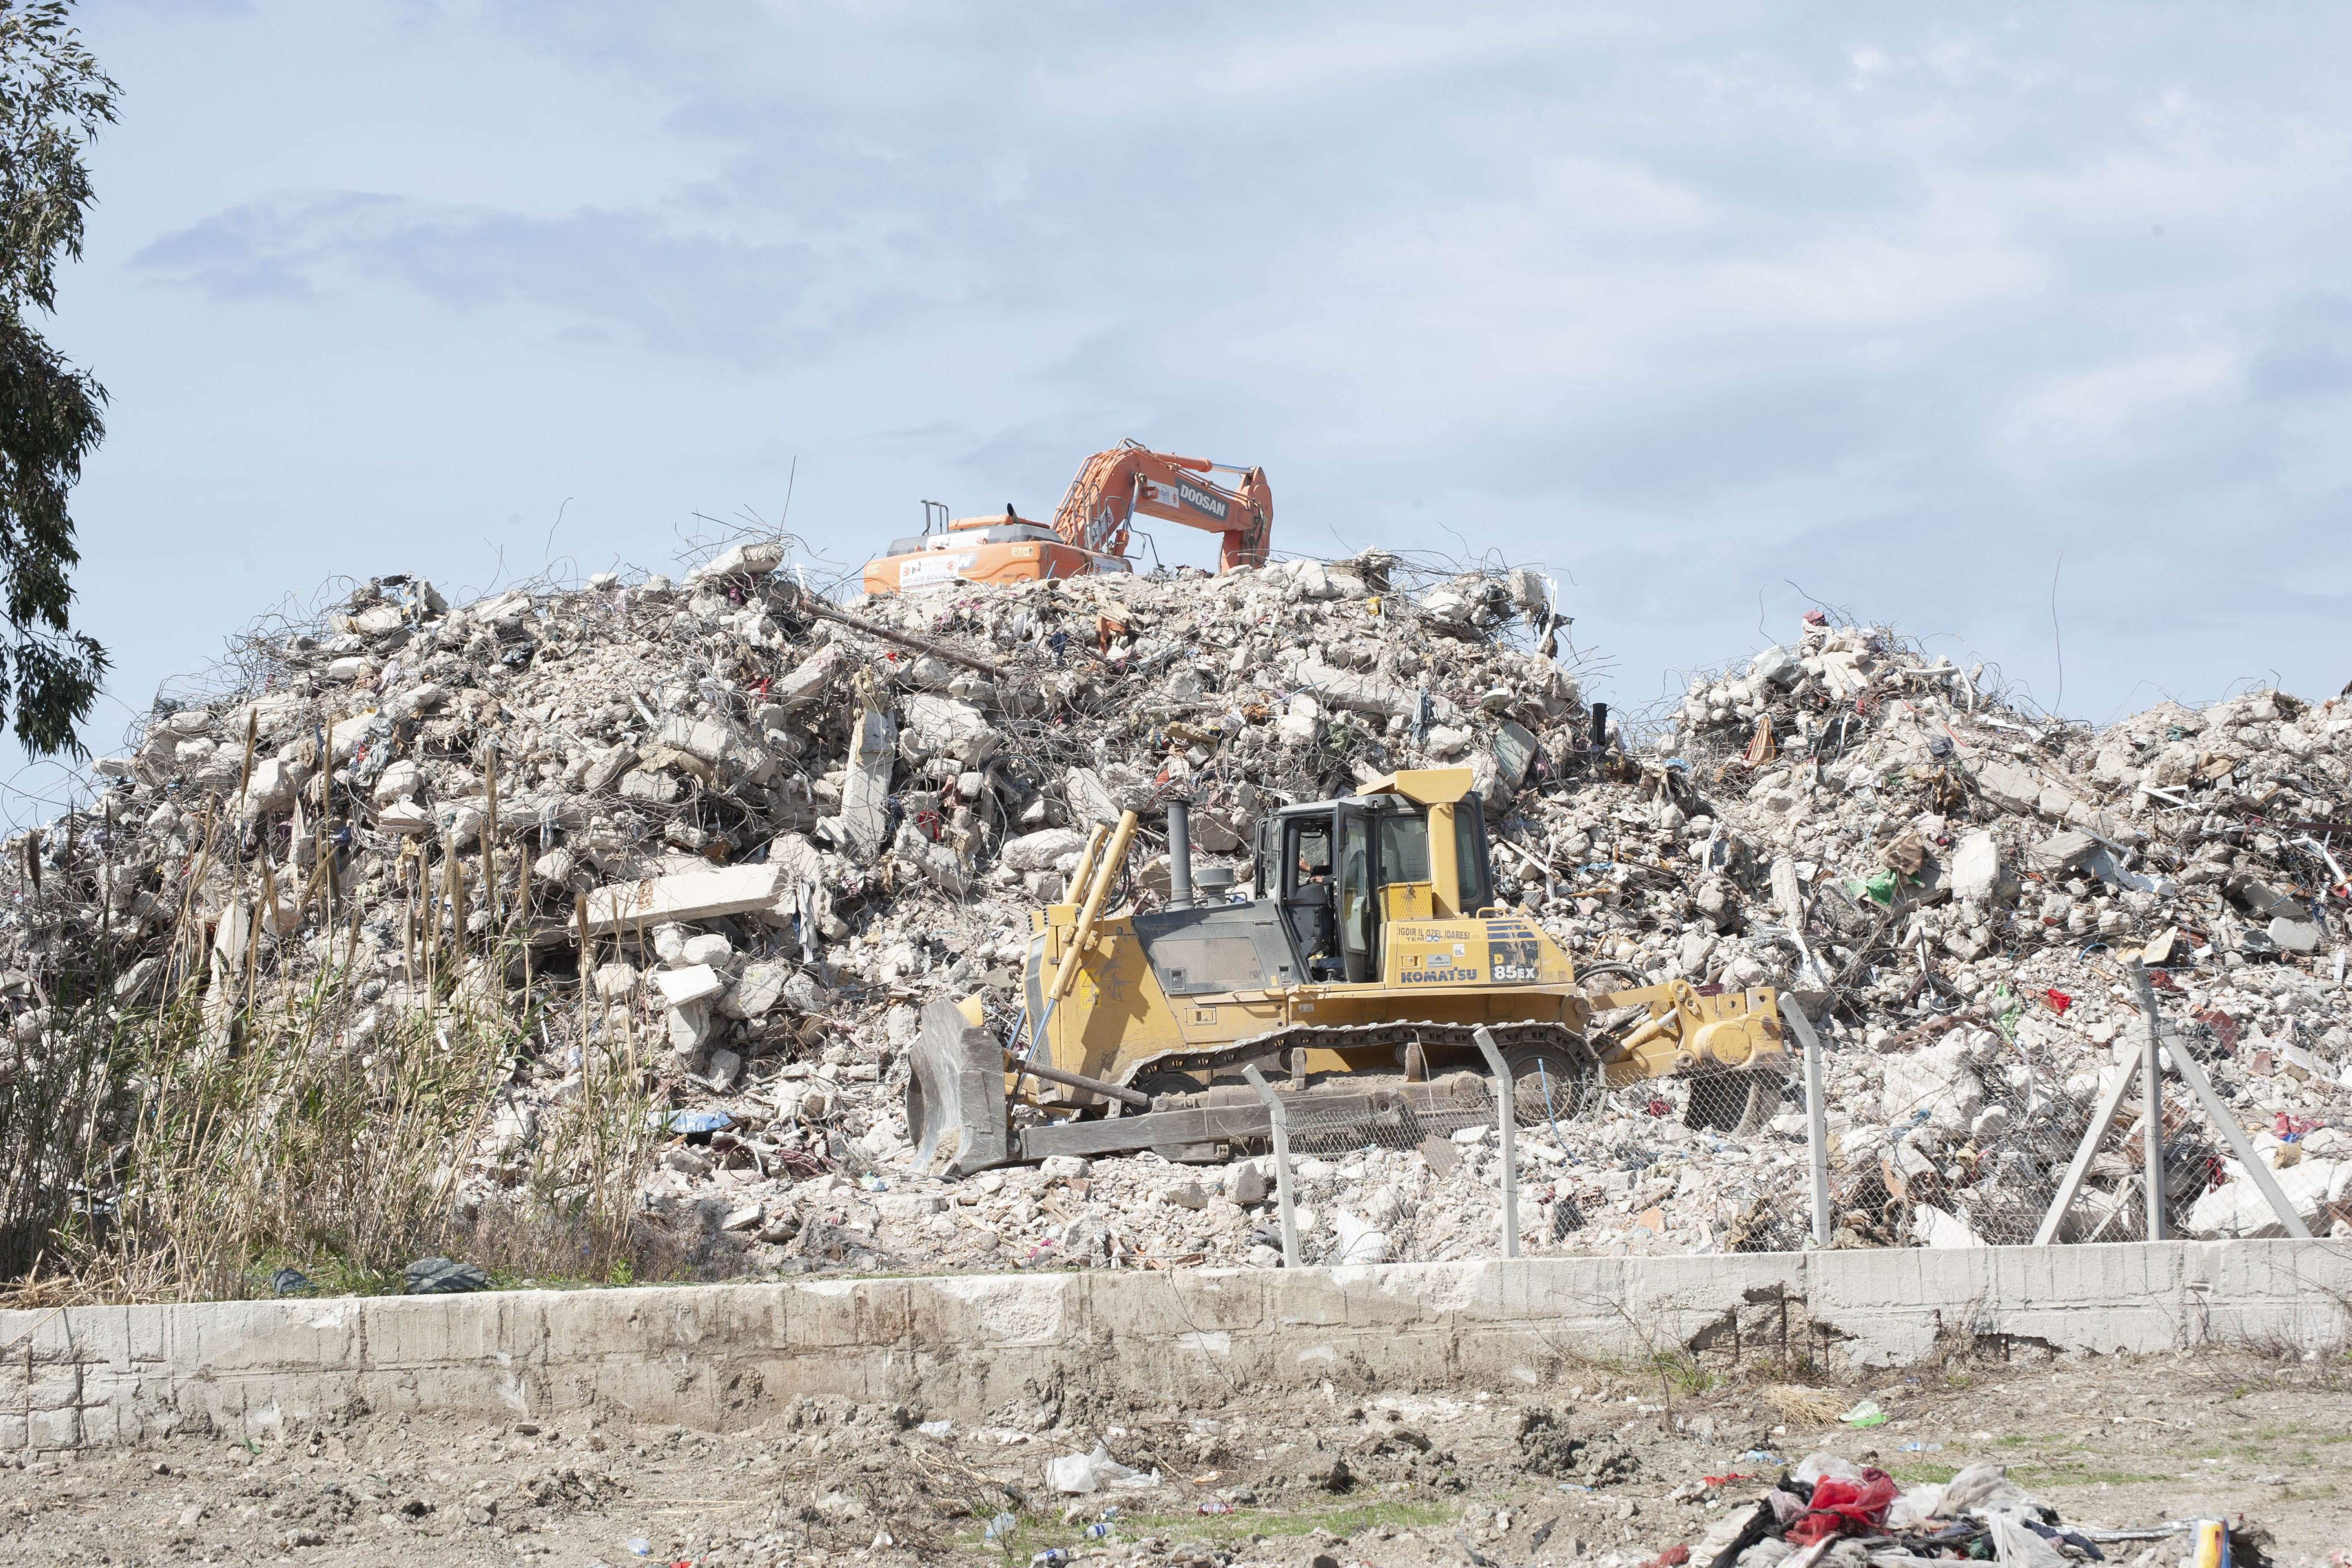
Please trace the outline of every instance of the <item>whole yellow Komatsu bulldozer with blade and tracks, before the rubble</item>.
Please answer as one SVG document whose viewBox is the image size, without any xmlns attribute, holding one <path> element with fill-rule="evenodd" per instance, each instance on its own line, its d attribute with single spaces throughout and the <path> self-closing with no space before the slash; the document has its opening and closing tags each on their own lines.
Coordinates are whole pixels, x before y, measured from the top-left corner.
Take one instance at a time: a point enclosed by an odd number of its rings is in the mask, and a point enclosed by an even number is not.
<svg viewBox="0 0 2352 1568">
<path fill-rule="evenodd" d="M 1270 1133 L 1240 1077 L 1251 1065 L 1327 1147 L 1416 1145 L 1494 1119 L 1477 1032 L 1526 1126 L 1661 1077 L 1689 1079 L 1693 1126 L 1755 1131 L 1778 1107 L 1790 1058 L 1773 990 L 1585 990 L 1604 969 L 1581 980 L 1534 919 L 1496 903 L 1470 769 L 1399 771 L 1265 816 L 1249 896 L 1228 867 L 1195 877 L 1190 811 L 1171 799 L 1167 898 L 1110 910 L 1138 825 L 1124 811 L 1094 827 L 1070 896 L 1030 917 L 1011 1041 L 981 1027 L 976 999 L 924 1013 L 908 1081 L 922 1168 L 1228 1159 Z"/>
</svg>

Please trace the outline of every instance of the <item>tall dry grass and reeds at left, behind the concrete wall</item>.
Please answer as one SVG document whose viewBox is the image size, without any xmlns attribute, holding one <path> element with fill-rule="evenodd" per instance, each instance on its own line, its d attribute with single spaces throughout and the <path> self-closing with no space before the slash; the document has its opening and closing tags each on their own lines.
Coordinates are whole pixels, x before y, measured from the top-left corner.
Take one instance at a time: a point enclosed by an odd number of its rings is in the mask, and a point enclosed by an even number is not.
<svg viewBox="0 0 2352 1568">
<path fill-rule="evenodd" d="M 656 1143 L 635 1034 L 600 1030 L 576 983 L 508 987 L 524 973 L 520 910 L 468 954 L 459 929 L 480 896 L 466 867 L 447 856 L 428 884 L 419 863 L 395 891 L 412 983 L 397 1011 L 372 1016 L 355 914 L 348 931 L 341 910 L 336 929 L 289 922 L 254 938 L 242 971 L 221 964 L 191 912 L 207 860 L 247 893 L 270 882 L 238 865 L 233 832 L 207 830 L 165 940 L 162 1001 L 118 1009 L 113 976 L 87 976 L 38 1044 L 0 1060 L 0 1300 L 238 1298 L 266 1293 L 278 1267 L 381 1291 L 435 1253 L 494 1276 L 682 1272 L 633 1208 Z M 522 1128 L 499 1105 L 527 1058 L 562 1058 L 576 1081 Z M 503 1182 L 492 1201 L 461 1190 L 480 1154 Z"/>
</svg>

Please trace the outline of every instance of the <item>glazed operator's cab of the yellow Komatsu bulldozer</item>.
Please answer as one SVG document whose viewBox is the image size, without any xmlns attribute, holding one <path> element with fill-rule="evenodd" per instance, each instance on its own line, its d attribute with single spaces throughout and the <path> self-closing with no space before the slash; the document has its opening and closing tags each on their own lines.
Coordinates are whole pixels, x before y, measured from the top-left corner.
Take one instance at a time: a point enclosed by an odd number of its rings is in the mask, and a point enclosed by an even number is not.
<svg viewBox="0 0 2352 1568">
<path fill-rule="evenodd" d="M 1486 823 L 1461 809 L 1468 792 L 1470 769 L 1421 769 L 1258 823 L 1254 891 L 1282 907 L 1310 980 L 1378 980 L 1388 922 L 1494 903 Z"/>
</svg>

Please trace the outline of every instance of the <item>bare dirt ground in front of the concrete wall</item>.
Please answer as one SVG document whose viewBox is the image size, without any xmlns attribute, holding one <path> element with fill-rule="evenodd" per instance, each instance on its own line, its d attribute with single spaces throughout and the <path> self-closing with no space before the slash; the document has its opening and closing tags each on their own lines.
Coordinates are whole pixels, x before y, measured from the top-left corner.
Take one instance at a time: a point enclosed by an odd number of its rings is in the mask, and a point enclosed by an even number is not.
<svg viewBox="0 0 2352 1568">
<path fill-rule="evenodd" d="M 1696 1368 L 1599 1368 L 1541 1394 L 1324 1389 L 1214 1410 L 1047 1396 L 946 1434 L 922 1429 L 924 1410 L 840 1401 L 724 1436 L 360 1415 L 259 1446 L 181 1436 L 0 1460 L 0 1561 L 1018 1566 L 1058 1547 L 1101 1563 L 1606 1568 L 1698 1547 L 1750 1512 L 1773 1460 L 1813 1450 L 1905 1486 L 1999 1462 L 2079 1526 L 2244 1516 L 2239 1540 L 2281 1566 L 2352 1547 L 2347 1359 L 1959 1361 L 1811 1401 L 1792 1385 L 1703 1382 Z M 1820 1418 L 1863 1396 L 1886 1425 Z M 1054 1493 L 1047 1462 L 1096 1443 L 1160 1483 Z M 1000 1514 L 1014 1523 L 983 1540 Z M 1096 1523 L 1108 1528 L 1089 1537 Z M 2185 1537 L 2107 1547 L 2119 1568 L 2185 1556 Z"/>
</svg>

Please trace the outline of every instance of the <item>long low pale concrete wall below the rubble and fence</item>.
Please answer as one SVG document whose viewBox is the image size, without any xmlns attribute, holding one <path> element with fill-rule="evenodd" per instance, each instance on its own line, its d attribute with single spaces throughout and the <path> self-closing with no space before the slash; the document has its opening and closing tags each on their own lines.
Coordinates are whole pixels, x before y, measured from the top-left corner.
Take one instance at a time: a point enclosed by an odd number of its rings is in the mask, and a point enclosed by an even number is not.
<svg viewBox="0 0 2352 1568">
<path fill-rule="evenodd" d="M 946 1274 L 0 1312 L 0 1446 L 273 1439 L 367 1413 L 755 1427 L 802 1394 L 974 1420 L 1042 1394 L 1541 1389 L 1592 1359 L 1898 1366 L 1938 1338 L 2051 1352 L 2328 1349 L 2352 1248 L 1522 1258 L 1289 1272 Z"/>
</svg>

